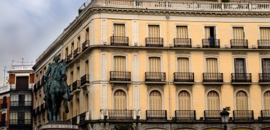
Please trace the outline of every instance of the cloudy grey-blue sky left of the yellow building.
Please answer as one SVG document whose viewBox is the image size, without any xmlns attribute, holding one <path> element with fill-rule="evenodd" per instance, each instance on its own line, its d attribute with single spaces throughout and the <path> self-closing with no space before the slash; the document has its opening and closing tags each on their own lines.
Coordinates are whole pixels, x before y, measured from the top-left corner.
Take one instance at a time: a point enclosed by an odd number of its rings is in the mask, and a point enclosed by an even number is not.
<svg viewBox="0 0 270 130">
<path fill-rule="evenodd" d="M 0 77 L 12 60 L 35 61 L 90 0 L 1 0 Z M 15 62 L 14 62 L 15 63 Z"/>
</svg>

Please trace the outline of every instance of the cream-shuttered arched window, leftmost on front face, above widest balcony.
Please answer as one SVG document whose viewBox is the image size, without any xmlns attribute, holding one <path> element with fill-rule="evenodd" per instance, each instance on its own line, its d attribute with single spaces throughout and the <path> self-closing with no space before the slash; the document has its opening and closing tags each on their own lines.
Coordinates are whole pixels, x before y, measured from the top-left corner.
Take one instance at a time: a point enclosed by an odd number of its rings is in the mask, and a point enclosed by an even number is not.
<svg viewBox="0 0 270 130">
<path fill-rule="evenodd" d="M 114 92 L 114 109 L 126 109 L 126 92 L 123 90 Z"/>
</svg>

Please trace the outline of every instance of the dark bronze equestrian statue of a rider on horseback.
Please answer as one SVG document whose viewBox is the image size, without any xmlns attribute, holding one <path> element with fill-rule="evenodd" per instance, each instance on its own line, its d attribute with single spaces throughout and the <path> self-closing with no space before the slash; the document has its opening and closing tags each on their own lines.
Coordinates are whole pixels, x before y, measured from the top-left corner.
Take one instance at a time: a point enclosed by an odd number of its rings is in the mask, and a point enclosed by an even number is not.
<svg viewBox="0 0 270 130">
<path fill-rule="evenodd" d="M 65 113 L 69 112 L 68 102 L 71 98 L 70 90 L 66 82 L 66 63 L 64 60 L 61 60 L 60 62 L 59 60 L 60 55 L 53 58 L 53 63 L 49 65 L 48 70 L 45 72 L 43 77 L 45 82 L 43 92 L 48 110 L 48 121 L 58 120 L 58 113 L 62 101 L 65 105 Z"/>
</svg>

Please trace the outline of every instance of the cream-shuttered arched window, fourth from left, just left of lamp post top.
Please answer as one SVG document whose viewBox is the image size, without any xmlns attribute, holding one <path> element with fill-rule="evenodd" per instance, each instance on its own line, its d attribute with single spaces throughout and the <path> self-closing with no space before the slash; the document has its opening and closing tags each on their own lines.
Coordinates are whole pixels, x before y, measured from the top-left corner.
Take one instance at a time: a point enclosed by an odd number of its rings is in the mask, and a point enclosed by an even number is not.
<svg viewBox="0 0 270 130">
<path fill-rule="evenodd" d="M 217 92 L 210 91 L 207 94 L 208 110 L 220 110 L 220 97 Z"/>
</svg>

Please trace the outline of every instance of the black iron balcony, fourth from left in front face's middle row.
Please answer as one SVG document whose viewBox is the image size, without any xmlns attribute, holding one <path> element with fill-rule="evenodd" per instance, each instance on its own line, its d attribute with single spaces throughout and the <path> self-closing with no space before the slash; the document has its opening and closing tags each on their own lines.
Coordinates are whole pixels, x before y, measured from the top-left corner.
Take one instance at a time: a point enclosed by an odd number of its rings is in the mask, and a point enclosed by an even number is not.
<svg viewBox="0 0 270 130">
<path fill-rule="evenodd" d="M 222 83 L 223 73 L 209 73 L 204 72 L 202 74 L 204 83 Z"/>
</svg>

